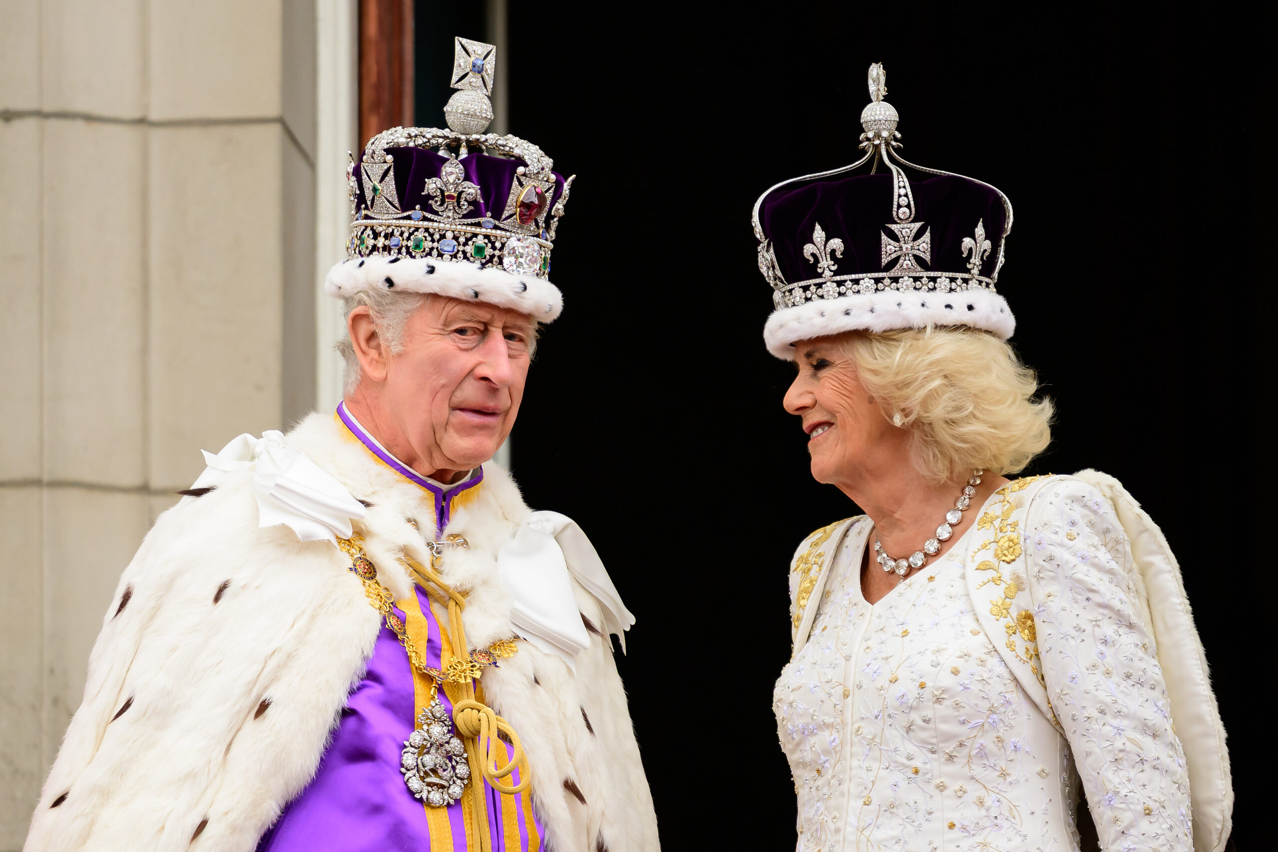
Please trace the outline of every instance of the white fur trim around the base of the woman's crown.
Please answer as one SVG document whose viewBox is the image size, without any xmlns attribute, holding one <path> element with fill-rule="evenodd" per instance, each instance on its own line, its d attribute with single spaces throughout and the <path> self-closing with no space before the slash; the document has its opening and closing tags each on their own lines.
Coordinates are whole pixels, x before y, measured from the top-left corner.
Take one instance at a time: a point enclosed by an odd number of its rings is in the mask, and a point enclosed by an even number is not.
<svg viewBox="0 0 1278 852">
<path fill-rule="evenodd" d="M 855 294 L 818 299 L 772 312 L 763 328 L 768 351 L 781 360 L 794 358 L 800 340 L 840 335 L 845 331 L 892 331 L 928 326 L 973 326 L 992 331 L 1002 340 L 1012 336 L 1016 318 L 1007 300 L 989 290 L 958 293 Z"/>
</svg>

